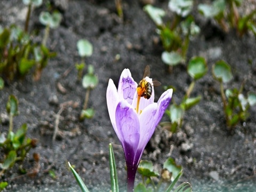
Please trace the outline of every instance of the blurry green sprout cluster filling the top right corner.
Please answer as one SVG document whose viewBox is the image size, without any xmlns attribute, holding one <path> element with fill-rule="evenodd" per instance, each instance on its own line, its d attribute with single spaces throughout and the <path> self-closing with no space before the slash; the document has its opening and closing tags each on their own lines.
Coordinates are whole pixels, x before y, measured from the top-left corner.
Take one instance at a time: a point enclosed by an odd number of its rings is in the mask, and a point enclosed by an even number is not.
<svg viewBox="0 0 256 192">
<path fill-rule="evenodd" d="M 215 0 L 212 4 L 199 4 L 198 11 L 206 18 L 215 19 L 226 33 L 230 28 L 235 28 L 239 36 L 249 30 L 256 35 L 253 19 L 256 10 L 247 15 L 240 15 L 237 7 L 241 6 L 242 2 L 243 0 Z"/>
</svg>

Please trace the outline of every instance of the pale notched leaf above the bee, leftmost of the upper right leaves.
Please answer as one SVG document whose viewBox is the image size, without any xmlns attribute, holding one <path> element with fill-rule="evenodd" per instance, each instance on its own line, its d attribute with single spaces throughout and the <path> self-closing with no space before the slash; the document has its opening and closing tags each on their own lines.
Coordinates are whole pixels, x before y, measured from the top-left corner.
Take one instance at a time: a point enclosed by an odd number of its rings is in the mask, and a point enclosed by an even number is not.
<svg viewBox="0 0 256 192">
<path fill-rule="evenodd" d="M 154 7 L 152 5 L 146 5 L 143 10 L 149 15 L 149 17 L 155 22 L 157 26 L 163 25 L 162 17 L 165 15 L 165 11 Z"/>
</svg>

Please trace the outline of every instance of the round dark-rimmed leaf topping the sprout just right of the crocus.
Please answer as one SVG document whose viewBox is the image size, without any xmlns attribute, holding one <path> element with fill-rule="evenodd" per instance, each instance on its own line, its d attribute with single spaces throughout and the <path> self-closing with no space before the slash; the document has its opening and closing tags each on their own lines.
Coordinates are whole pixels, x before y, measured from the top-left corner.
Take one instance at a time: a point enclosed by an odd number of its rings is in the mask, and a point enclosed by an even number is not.
<svg viewBox="0 0 256 192">
<path fill-rule="evenodd" d="M 203 57 L 191 58 L 188 62 L 187 71 L 195 80 L 202 78 L 208 71 L 205 59 Z"/>
</svg>

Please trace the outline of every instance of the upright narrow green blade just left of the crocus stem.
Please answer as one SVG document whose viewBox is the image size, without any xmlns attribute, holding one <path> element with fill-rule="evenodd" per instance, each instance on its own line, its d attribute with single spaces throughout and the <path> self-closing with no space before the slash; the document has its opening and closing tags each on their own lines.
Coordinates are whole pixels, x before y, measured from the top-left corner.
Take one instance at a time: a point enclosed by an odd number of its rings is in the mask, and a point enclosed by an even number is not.
<svg viewBox="0 0 256 192">
<path fill-rule="evenodd" d="M 118 192 L 119 187 L 118 187 L 118 178 L 117 178 L 117 172 L 116 172 L 116 162 L 115 162 L 114 151 L 111 143 L 109 143 L 109 166 L 110 166 L 111 191 Z"/>
</svg>

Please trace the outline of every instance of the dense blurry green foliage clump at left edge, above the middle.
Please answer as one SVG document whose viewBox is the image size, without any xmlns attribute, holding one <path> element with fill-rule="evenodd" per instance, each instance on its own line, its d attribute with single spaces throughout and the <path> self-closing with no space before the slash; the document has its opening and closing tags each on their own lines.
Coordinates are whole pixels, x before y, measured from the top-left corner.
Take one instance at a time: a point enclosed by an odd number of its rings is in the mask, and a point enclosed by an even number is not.
<svg viewBox="0 0 256 192">
<path fill-rule="evenodd" d="M 21 28 L 12 25 L 0 34 L 0 74 L 12 81 L 25 76 L 34 68 L 34 74 L 41 74 L 49 58 L 55 56 L 47 47 L 33 43 Z M 37 78 L 38 79 L 38 78 Z"/>
</svg>

